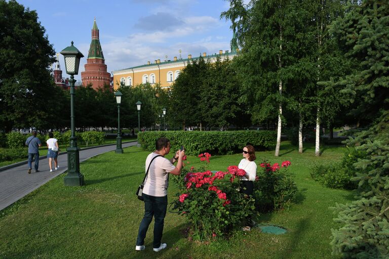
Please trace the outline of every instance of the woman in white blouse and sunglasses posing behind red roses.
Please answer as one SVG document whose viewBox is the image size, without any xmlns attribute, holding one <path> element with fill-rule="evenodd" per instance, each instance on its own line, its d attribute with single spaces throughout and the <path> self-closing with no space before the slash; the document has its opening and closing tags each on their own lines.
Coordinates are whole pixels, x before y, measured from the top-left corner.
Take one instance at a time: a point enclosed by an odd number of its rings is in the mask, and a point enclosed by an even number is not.
<svg viewBox="0 0 389 259">
<path fill-rule="evenodd" d="M 244 169 L 246 175 L 241 177 L 241 192 L 247 195 L 253 194 L 255 177 L 257 176 L 257 165 L 254 162 L 255 150 L 251 145 L 246 145 L 243 148 L 243 159 L 239 163 L 239 169 Z"/>
</svg>

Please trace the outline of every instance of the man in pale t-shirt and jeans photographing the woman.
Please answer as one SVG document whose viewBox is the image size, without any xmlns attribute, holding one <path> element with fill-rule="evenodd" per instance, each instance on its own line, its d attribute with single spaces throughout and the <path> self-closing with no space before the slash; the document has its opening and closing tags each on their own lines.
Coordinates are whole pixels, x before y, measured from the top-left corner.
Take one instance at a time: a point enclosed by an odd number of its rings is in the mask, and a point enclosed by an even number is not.
<svg viewBox="0 0 389 259">
<path fill-rule="evenodd" d="M 135 250 L 137 251 L 145 249 L 144 239 L 152 217 L 154 217 L 153 250 L 158 252 L 165 249 L 167 246 L 166 243 L 161 242 L 161 239 L 168 207 L 167 189 L 169 174 L 177 176 L 181 173 L 182 158 L 185 155 L 184 150 L 178 150 L 175 155 L 168 160 L 165 158 L 165 155 L 169 154 L 169 152 L 169 139 L 159 138 L 157 142 L 155 142 L 155 151 L 146 158 L 146 170 L 147 168 L 149 168 L 149 170 L 143 187 L 144 217 L 140 222 L 138 237 L 136 239 Z M 173 165 L 175 161 L 178 161 L 177 167 Z"/>
</svg>

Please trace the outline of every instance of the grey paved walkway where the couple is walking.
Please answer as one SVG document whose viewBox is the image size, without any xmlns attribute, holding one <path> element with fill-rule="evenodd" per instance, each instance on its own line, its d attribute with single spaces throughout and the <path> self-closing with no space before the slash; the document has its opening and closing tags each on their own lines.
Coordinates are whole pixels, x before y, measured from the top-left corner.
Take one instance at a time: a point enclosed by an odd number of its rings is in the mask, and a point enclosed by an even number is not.
<svg viewBox="0 0 389 259">
<path fill-rule="evenodd" d="M 130 147 L 136 145 L 137 142 L 123 143 L 122 147 Z M 93 156 L 112 151 L 116 149 L 116 144 L 109 146 L 102 146 L 80 151 L 80 162 L 85 161 Z M 118 154 L 119 155 L 119 154 Z M 67 154 L 60 154 L 58 156 L 59 169 L 50 172 L 49 158 L 40 157 L 39 172 L 34 172 L 34 165 L 32 164 L 32 172 L 28 174 L 28 165 L 25 162 L 20 163 L 6 170 L 0 171 L 0 210 L 8 207 L 15 201 L 23 198 L 33 190 L 41 187 L 49 182 L 51 179 L 62 174 L 67 170 Z M 54 161 L 53 161 L 54 168 Z M 82 173 L 82 172 L 81 172 Z"/>
</svg>

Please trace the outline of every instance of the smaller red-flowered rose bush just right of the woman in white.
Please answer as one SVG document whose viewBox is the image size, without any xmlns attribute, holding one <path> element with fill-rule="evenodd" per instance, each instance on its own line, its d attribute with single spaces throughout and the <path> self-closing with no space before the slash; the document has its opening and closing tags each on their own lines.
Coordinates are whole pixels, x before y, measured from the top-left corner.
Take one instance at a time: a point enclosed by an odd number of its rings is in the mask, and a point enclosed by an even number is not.
<svg viewBox="0 0 389 259">
<path fill-rule="evenodd" d="M 260 164 L 254 182 L 255 206 L 259 211 L 287 209 L 297 192 L 294 176 L 288 171 L 289 161 Z"/>
</svg>

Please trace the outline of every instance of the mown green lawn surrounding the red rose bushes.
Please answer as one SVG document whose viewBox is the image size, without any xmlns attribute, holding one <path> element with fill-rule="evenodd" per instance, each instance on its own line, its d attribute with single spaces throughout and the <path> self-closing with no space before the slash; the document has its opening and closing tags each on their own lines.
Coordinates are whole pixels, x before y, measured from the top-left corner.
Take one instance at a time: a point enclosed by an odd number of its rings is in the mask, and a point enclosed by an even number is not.
<svg viewBox="0 0 389 259">
<path fill-rule="evenodd" d="M 295 202 L 289 210 L 256 219 L 283 226 L 289 233 L 271 235 L 253 229 L 200 244 L 185 238 L 185 218 L 168 212 L 163 236 L 168 248 L 159 253 L 151 249 L 153 223 L 146 250 L 135 251 L 143 215 L 135 191 L 148 152 L 137 147 L 126 148 L 124 154 L 108 152 L 81 163 L 86 186 L 65 187 L 62 174 L 1 211 L 0 258 L 332 258 L 331 228 L 339 225 L 328 207 L 352 201 L 353 193 L 322 187 L 309 171 L 316 163 L 339 160 L 343 151 L 325 146 L 322 156 L 316 157 L 313 145 L 298 154 L 296 147 L 283 142 L 279 158 L 274 151 L 257 152 L 257 163 L 292 162 L 289 168 L 299 189 Z M 209 169 L 225 170 L 241 158 L 240 154 L 213 156 Z M 200 164 L 196 157 L 189 156 L 188 161 Z M 168 190 L 173 201 L 177 189 L 172 181 Z"/>
</svg>

